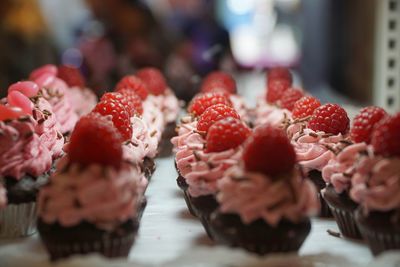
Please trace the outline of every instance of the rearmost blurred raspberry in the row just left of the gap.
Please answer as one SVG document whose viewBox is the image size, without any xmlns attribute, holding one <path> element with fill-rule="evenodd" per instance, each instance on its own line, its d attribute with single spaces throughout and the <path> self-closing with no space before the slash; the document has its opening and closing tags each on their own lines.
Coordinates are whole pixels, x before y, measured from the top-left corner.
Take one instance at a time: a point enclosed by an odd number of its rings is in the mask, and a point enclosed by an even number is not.
<svg viewBox="0 0 400 267">
<path fill-rule="evenodd" d="M 153 95 L 162 95 L 167 89 L 167 82 L 162 73 L 156 68 L 143 68 L 136 73 L 147 86 L 147 90 Z"/>
</svg>

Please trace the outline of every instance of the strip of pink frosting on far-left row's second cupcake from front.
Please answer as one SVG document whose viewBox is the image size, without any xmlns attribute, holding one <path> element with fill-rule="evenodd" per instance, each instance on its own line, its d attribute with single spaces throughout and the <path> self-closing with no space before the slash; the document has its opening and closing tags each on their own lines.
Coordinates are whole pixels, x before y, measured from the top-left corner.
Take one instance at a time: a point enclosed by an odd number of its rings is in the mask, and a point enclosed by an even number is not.
<svg viewBox="0 0 400 267">
<path fill-rule="evenodd" d="M 35 101 L 33 117 L 37 121 L 36 132 L 40 141 L 49 149 L 53 159 L 61 157 L 64 136 L 59 132 L 60 125 L 46 99 L 40 97 Z"/>
</svg>

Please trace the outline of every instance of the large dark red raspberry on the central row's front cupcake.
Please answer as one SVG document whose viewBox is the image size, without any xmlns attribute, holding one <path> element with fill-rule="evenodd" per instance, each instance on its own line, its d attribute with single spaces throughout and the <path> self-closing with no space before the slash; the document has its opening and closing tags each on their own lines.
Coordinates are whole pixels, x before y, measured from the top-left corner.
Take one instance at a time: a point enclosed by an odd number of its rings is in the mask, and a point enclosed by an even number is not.
<svg viewBox="0 0 400 267">
<path fill-rule="evenodd" d="M 296 153 L 282 129 L 264 124 L 247 139 L 243 161 L 247 171 L 275 176 L 293 169 Z"/>
</svg>

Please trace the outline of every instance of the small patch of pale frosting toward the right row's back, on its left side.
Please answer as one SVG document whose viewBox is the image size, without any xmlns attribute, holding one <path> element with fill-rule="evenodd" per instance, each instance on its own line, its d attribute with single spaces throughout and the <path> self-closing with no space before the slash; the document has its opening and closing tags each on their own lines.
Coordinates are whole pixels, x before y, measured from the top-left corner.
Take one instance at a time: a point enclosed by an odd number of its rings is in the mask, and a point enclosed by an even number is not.
<svg viewBox="0 0 400 267">
<path fill-rule="evenodd" d="M 265 102 L 264 96 L 258 101 L 255 109 L 255 125 L 271 124 L 273 126 L 283 126 L 285 119 L 292 117 L 292 113 L 287 109 L 278 108 Z"/>
</svg>

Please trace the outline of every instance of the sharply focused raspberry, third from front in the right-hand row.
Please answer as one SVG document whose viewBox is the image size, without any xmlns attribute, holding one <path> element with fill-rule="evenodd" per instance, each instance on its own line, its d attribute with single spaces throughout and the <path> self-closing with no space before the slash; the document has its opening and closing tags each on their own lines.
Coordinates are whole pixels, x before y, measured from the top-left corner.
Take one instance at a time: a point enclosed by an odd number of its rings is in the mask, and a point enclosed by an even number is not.
<svg viewBox="0 0 400 267">
<path fill-rule="evenodd" d="M 331 134 L 346 134 L 350 120 L 347 112 L 337 104 L 325 104 L 314 110 L 308 128 Z"/>
</svg>

